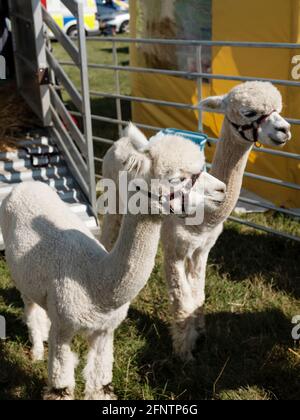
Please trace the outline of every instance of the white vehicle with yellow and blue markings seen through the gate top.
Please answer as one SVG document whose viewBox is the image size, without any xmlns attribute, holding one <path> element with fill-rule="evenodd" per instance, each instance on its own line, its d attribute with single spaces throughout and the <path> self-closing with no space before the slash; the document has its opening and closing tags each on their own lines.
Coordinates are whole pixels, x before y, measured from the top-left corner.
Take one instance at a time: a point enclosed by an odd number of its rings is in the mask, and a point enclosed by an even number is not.
<svg viewBox="0 0 300 420">
<path fill-rule="evenodd" d="M 76 18 L 60 0 L 43 0 L 48 12 L 58 26 L 69 36 L 77 35 Z M 96 0 L 83 0 L 84 5 L 84 26 L 87 35 L 93 35 L 99 31 L 97 20 Z"/>
</svg>

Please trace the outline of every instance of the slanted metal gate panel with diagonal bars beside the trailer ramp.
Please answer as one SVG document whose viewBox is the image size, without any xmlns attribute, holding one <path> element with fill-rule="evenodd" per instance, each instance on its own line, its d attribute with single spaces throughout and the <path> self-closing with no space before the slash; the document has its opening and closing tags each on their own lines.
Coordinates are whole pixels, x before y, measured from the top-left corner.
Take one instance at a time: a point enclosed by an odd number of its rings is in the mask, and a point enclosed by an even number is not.
<svg viewBox="0 0 300 420">
<path fill-rule="evenodd" d="M 61 30 L 45 7 L 42 8 L 39 5 L 39 9 L 45 29 L 50 30 L 56 41 L 70 56 L 72 63 L 79 69 L 81 83 L 79 91 L 53 55 L 49 39 L 47 39 L 47 32 L 45 32 L 43 42 L 46 43 L 46 59 L 50 72 L 52 132 L 73 176 L 81 186 L 93 210 L 96 211 L 95 165 L 83 2 L 61 0 L 61 3 L 76 18 L 78 36 L 75 39 L 71 39 Z M 56 90 L 57 83 L 59 88 L 63 87 L 67 91 L 73 105 L 80 112 L 82 116 L 81 127 L 77 125 L 70 110 L 63 103 L 62 96 L 59 93 L 60 89 Z"/>
</svg>

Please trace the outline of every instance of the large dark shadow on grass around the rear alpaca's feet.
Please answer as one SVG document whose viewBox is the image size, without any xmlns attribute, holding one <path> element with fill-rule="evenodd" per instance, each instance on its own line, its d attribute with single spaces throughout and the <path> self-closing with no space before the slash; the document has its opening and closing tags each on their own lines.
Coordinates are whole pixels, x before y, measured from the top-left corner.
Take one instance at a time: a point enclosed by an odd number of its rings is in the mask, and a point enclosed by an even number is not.
<svg viewBox="0 0 300 420">
<path fill-rule="evenodd" d="M 136 310 L 129 316 L 147 342 L 137 360 L 141 379 L 158 394 L 166 387 L 178 399 L 218 399 L 222 391 L 256 386 L 270 398 L 300 398 L 300 366 L 287 355 L 291 324 L 279 310 L 207 315 L 207 341 L 190 364 L 168 357 L 167 325 Z"/>
</svg>

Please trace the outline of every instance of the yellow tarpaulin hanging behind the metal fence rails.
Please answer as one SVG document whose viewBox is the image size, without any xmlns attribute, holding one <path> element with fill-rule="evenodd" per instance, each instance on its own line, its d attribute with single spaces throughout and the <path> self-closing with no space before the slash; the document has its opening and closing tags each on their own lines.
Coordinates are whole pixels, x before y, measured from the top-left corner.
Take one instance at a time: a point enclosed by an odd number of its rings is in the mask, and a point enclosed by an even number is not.
<svg viewBox="0 0 300 420">
<path fill-rule="evenodd" d="M 169 1 L 174 8 L 176 0 Z M 132 35 L 136 36 L 137 22 L 140 12 L 138 3 L 131 0 Z M 190 0 L 185 1 L 189 7 Z M 190 3 L 191 5 L 193 2 Z M 272 13 L 270 13 L 272 11 Z M 192 15 L 193 10 L 190 10 Z M 176 13 L 174 13 L 174 16 Z M 145 19 L 145 16 L 144 16 Z M 174 25 L 172 16 L 169 21 Z M 165 22 L 165 20 L 164 20 Z M 174 33 L 173 26 L 171 33 Z M 153 36 L 153 33 L 150 34 Z M 154 36 L 159 34 L 154 33 Z M 300 42 L 300 0 L 212 0 L 212 39 L 226 41 L 253 42 Z M 167 67 L 172 57 L 177 57 L 172 50 L 161 49 L 161 56 L 166 53 Z M 159 50 L 132 48 L 132 65 L 149 65 L 149 57 L 158 55 Z M 182 55 L 182 54 L 181 54 Z M 213 48 L 212 73 L 271 79 L 292 80 L 292 58 L 300 55 L 298 50 L 286 49 L 250 49 L 250 48 Z M 168 59 L 167 59 L 168 57 Z M 160 58 L 164 61 L 163 58 Z M 150 58 L 151 62 L 151 58 Z M 152 58 L 153 62 L 153 58 Z M 152 64 L 153 65 L 153 64 Z M 157 65 L 156 65 L 157 67 Z M 203 96 L 220 95 L 228 92 L 236 82 L 214 80 L 203 83 Z M 300 119 L 300 87 L 279 87 L 284 102 L 283 115 Z M 169 77 L 164 75 L 134 74 L 132 76 L 132 94 L 134 96 L 161 99 L 171 102 L 197 104 L 197 84 L 195 81 Z M 133 119 L 157 127 L 177 127 L 197 130 L 197 111 L 186 111 L 173 107 L 154 106 L 138 103 L 133 106 Z M 222 116 L 204 114 L 205 132 L 218 136 L 222 124 Z M 293 140 L 285 151 L 300 153 L 300 127 L 293 126 Z M 211 160 L 213 148 L 207 148 L 207 159 Z M 281 157 L 273 157 L 265 153 L 252 153 L 247 170 L 300 184 L 299 161 Z M 262 181 L 245 178 L 244 187 L 280 206 L 300 208 L 300 192 L 276 186 Z"/>
</svg>

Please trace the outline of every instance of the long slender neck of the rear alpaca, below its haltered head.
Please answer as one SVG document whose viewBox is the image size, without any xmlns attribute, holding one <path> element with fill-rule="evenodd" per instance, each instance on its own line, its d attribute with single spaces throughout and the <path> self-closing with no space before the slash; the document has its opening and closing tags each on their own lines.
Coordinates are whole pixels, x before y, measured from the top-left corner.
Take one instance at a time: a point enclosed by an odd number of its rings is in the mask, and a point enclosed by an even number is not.
<svg viewBox="0 0 300 420">
<path fill-rule="evenodd" d="M 211 175 L 224 182 L 227 187 L 225 202 L 208 216 L 208 224 L 223 223 L 234 210 L 240 196 L 243 175 L 253 143 L 245 143 L 235 137 L 230 123 L 225 119 L 221 138 L 212 163 Z"/>
</svg>

